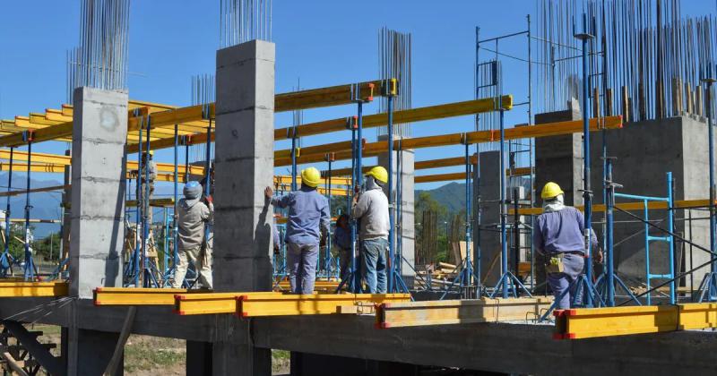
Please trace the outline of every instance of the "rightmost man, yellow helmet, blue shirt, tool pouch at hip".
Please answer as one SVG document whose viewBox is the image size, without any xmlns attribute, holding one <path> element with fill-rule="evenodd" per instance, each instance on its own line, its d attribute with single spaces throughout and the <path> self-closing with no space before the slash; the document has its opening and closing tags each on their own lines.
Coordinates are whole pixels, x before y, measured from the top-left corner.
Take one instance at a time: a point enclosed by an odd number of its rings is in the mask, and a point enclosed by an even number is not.
<svg viewBox="0 0 717 376">
<path fill-rule="evenodd" d="M 564 194 L 560 186 L 549 182 L 545 184 L 540 197 L 543 199 L 543 213 L 535 221 L 532 231 L 532 244 L 546 264 L 548 284 L 557 300 L 557 309 L 570 308 L 571 302 L 580 303 L 577 291 L 577 278 L 583 273 L 585 262 L 583 213 L 564 203 Z M 598 238 L 590 229 L 590 241 L 596 261 L 602 253 L 598 249 Z"/>
</svg>

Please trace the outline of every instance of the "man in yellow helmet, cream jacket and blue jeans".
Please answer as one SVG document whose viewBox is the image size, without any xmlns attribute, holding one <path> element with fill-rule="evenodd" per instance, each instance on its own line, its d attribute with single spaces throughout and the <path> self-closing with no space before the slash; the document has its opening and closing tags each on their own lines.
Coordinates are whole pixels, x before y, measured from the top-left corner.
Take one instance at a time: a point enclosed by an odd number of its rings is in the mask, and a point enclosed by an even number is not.
<svg viewBox="0 0 717 376">
<path fill-rule="evenodd" d="M 388 172 L 384 167 L 371 168 L 364 186 L 353 196 L 351 215 L 360 220 L 361 274 L 371 294 L 386 293 L 386 250 L 388 249 L 388 198 L 384 185 Z"/>
</svg>

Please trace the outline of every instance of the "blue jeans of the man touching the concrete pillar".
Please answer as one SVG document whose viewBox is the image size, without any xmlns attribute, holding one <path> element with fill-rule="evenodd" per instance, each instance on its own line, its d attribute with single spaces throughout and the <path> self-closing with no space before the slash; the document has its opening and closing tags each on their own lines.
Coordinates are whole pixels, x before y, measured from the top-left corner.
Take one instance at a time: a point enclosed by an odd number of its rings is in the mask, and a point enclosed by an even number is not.
<svg viewBox="0 0 717 376">
<path fill-rule="evenodd" d="M 288 243 L 286 245 L 291 292 L 294 294 L 314 294 L 319 244 Z"/>
</svg>

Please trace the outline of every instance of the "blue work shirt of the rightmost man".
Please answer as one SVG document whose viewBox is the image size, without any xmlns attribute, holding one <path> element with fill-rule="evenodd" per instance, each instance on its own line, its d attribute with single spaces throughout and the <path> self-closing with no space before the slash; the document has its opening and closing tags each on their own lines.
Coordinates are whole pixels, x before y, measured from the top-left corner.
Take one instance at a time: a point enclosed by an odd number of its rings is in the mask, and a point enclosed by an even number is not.
<svg viewBox="0 0 717 376">
<path fill-rule="evenodd" d="M 571 206 L 540 214 L 532 231 L 532 244 L 538 252 L 585 252 L 583 213 Z M 590 242 L 594 250 L 598 246 L 595 232 L 590 230 Z"/>
</svg>

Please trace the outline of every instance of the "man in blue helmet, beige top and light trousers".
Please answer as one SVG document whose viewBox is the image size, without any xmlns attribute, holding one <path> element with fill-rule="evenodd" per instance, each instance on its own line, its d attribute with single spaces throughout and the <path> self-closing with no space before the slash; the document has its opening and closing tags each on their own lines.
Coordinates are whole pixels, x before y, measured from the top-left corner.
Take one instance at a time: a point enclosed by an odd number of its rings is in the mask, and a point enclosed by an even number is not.
<svg viewBox="0 0 717 376">
<path fill-rule="evenodd" d="M 179 248 L 179 264 L 174 275 L 175 288 L 181 288 L 185 280 L 189 261 L 199 274 L 199 281 L 204 288 L 212 289 L 212 250 L 206 246 L 204 226 L 214 216 L 212 196 L 202 201 L 202 185 L 188 182 L 184 188 L 185 197 L 177 205 L 177 245 Z"/>
</svg>

